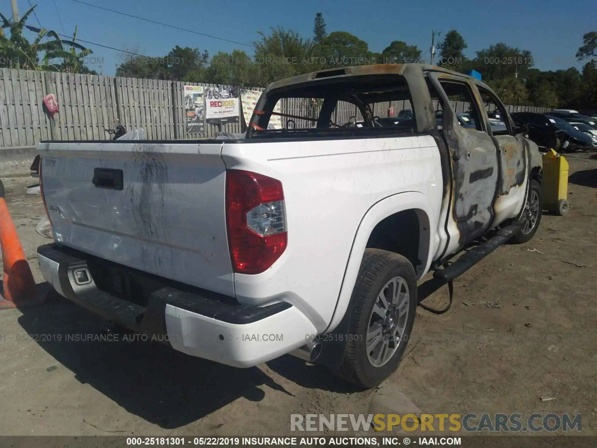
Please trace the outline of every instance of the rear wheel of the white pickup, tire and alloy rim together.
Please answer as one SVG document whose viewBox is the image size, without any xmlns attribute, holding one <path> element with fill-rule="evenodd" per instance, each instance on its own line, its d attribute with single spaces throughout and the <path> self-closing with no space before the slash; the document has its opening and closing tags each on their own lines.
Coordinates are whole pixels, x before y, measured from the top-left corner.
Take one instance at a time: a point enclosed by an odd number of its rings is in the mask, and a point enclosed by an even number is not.
<svg viewBox="0 0 597 448">
<path fill-rule="evenodd" d="M 379 385 L 398 367 L 417 311 L 417 279 L 402 255 L 366 249 L 352 292 L 349 336 L 333 372 L 364 388 Z"/>
</svg>

